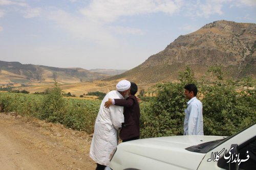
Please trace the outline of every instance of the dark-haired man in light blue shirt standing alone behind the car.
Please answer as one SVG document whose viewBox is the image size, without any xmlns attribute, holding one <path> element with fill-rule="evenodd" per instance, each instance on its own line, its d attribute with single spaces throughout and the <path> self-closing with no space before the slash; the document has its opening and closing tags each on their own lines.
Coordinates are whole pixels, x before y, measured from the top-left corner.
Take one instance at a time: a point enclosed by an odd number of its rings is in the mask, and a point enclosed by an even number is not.
<svg viewBox="0 0 256 170">
<path fill-rule="evenodd" d="M 195 84 L 188 84 L 184 88 L 185 97 L 189 100 L 187 102 L 187 109 L 185 109 L 184 135 L 204 135 L 203 105 L 196 98 L 197 86 Z"/>
</svg>

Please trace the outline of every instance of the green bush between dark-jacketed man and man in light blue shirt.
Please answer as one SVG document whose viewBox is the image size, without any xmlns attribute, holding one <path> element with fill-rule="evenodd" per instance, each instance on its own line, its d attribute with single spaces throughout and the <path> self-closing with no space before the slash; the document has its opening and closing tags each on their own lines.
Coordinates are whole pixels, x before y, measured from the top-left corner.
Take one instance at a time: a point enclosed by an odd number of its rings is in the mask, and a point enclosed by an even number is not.
<svg viewBox="0 0 256 170">
<path fill-rule="evenodd" d="M 157 96 L 141 103 L 141 137 L 183 134 L 185 99 L 183 84 L 157 85 Z"/>
</svg>

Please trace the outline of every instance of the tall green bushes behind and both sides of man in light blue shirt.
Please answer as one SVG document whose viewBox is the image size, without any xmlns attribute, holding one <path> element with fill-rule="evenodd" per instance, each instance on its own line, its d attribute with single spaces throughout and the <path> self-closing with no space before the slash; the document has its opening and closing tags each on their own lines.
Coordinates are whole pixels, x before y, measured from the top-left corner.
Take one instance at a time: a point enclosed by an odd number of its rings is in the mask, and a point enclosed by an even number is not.
<svg viewBox="0 0 256 170">
<path fill-rule="evenodd" d="M 193 71 L 187 67 L 180 73 L 178 83 L 156 86 L 156 97 L 140 104 L 141 138 L 183 134 L 184 85 L 197 84 L 197 98 L 203 103 L 205 135 L 232 135 L 256 123 L 256 96 L 253 79 L 242 82 L 223 80 L 221 67 L 210 67 L 210 79 L 196 82 Z M 214 81 L 212 81 L 214 80 Z M 249 88 L 252 87 L 252 88 Z"/>
</svg>

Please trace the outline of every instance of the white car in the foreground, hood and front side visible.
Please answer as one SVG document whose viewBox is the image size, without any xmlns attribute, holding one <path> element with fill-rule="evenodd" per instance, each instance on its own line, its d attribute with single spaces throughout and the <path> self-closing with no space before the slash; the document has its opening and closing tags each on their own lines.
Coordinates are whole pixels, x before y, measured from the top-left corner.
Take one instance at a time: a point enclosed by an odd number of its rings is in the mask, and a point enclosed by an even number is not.
<svg viewBox="0 0 256 170">
<path fill-rule="evenodd" d="M 113 154 L 106 169 L 255 170 L 256 124 L 230 137 L 191 135 L 123 142 Z"/>
</svg>

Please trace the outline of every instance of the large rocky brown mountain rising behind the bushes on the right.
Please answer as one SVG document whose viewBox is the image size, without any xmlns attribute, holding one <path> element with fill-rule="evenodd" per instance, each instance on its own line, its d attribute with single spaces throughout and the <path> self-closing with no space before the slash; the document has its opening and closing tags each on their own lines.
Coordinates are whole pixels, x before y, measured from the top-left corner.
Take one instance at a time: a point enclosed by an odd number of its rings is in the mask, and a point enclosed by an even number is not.
<svg viewBox="0 0 256 170">
<path fill-rule="evenodd" d="M 104 80 L 126 78 L 138 83 L 177 80 L 191 67 L 201 77 L 212 65 L 222 65 L 228 77 L 256 75 L 256 24 L 215 21 L 196 32 L 181 35 L 139 66 Z"/>
</svg>

